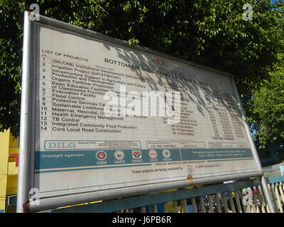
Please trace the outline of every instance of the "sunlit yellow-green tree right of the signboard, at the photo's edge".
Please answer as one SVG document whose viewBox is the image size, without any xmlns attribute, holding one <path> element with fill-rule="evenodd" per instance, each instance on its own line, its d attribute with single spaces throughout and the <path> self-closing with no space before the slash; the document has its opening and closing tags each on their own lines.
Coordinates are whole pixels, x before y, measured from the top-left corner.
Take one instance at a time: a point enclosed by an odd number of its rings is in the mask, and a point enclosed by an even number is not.
<svg viewBox="0 0 284 227">
<path fill-rule="evenodd" d="M 284 17 L 278 21 L 274 33 L 284 43 Z M 253 88 L 246 108 L 251 130 L 261 148 L 271 142 L 284 145 L 284 49 L 278 52 L 278 61 L 268 77 Z"/>
</svg>

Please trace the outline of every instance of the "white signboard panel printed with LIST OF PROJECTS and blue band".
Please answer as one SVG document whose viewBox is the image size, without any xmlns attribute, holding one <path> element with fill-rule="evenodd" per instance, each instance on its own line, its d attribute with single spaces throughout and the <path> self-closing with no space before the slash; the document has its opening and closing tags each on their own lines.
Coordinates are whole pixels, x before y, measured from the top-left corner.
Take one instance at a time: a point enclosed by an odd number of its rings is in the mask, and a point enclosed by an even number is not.
<svg viewBox="0 0 284 227">
<path fill-rule="evenodd" d="M 43 196 L 258 170 L 230 77 L 41 23 L 35 33 Z"/>
</svg>

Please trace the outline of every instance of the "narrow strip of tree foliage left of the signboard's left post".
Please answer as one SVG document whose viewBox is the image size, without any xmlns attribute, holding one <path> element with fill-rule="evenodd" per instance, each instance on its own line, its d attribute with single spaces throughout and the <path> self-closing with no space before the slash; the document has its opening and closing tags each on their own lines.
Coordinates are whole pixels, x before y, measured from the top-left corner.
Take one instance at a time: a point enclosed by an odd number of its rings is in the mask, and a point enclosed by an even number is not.
<svg viewBox="0 0 284 227">
<path fill-rule="evenodd" d="M 0 131 L 18 134 L 24 4 L 0 1 Z"/>
</svg>

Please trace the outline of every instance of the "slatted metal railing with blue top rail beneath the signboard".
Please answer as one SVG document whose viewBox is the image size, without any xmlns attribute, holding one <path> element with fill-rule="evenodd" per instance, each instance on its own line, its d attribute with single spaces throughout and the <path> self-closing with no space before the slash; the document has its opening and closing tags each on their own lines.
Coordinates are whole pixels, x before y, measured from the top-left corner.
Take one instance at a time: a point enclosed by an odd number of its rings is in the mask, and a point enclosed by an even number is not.
<svg viewBox="0 0 284 227">
<path fill-rule="evenodd" d="M 284 210 L 284 176 L 267 177 L 275 212 Z M 261 180 L 248 179 L 168 192 L 97 201 L 81 206 L 54 209 L 52 213 L 269 213 Z"/>
</svg>

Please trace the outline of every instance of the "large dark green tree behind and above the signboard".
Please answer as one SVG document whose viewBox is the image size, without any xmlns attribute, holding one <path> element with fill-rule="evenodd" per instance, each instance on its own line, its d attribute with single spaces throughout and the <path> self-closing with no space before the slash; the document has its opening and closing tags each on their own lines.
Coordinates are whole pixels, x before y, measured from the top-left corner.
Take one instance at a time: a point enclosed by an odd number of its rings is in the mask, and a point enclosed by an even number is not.
<svg viewBox="0 0 284 227">
<path fill-rule="evenodd" d="M 283 52 L 279 21 L 283 3 L 249 1 L 253 21 L 244 21 L 245 0 L 38 0 L 40 14 L 126 40 L 168 55 L 234 74 L 247 114 L 252 91 L 269 79 Z M 23 9 L 33 1 L 2 1 L 0 130 L 17 131 Z M 282 6 L 282 8 L 280 7 Z M 4 45 L 2 45 L 4 43 Z M 6 66 L 5 66 L 6 65 Z M 5 70 L 6 68 L 6 70 Z M 2 83 L 3 81 L 3 83 Z M 4 84 L 6 83 L 6 84 Z M 8 83 L 8 84 L 7 84 Z M 16 89 L 15 89 L 16 88 Z M 261 117 L 262 115 L 258 115 Z M 251 120 L 253 121 L 253 120 Z M 253 126 L 259 126 L 255 122 Z"/>
</svg>

